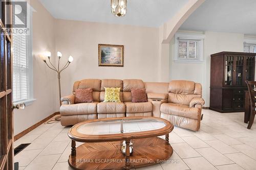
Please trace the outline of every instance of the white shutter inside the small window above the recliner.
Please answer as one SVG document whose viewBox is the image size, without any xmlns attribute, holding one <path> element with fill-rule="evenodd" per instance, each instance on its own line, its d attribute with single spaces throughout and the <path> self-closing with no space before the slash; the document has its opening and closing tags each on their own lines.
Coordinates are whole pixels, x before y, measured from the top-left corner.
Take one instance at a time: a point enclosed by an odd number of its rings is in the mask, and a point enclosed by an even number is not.
<svg viewBox="0 0 256 170">
<path fill-rule="evenodd" d="M 202 43 L 202 40 L 178 38 L 177 59 L 200 61 L 202 58 L 201 43 Z"/>
</svg>

